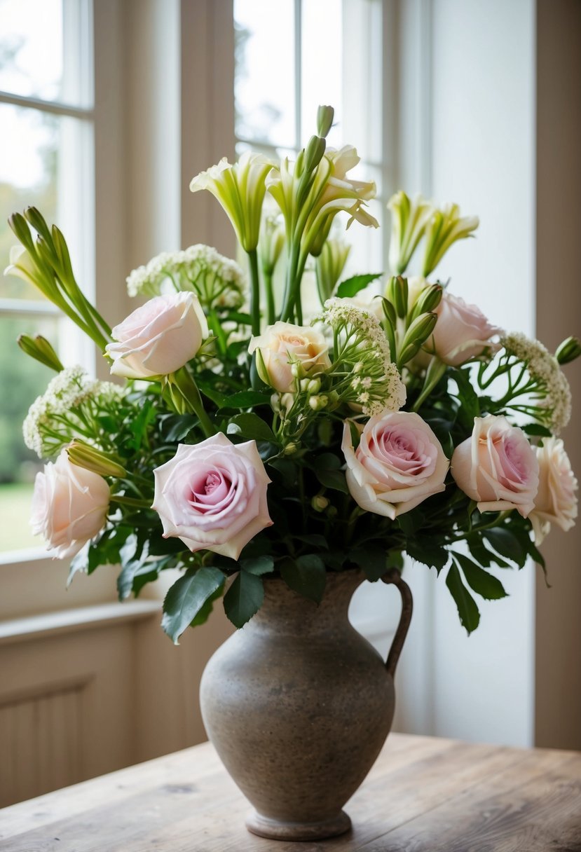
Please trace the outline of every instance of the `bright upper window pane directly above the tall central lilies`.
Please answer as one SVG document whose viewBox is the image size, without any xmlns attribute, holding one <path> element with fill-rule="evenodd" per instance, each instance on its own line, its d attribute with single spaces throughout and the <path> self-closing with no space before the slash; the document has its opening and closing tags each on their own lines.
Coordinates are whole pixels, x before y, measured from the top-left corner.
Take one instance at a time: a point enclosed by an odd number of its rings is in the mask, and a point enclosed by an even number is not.
<svg viewBox="0 0 581 852">
<path fill-rule="evenodd" d="M 293 0 L 234 0 L 236 135 L 294 147 Z"/>
</svg>

